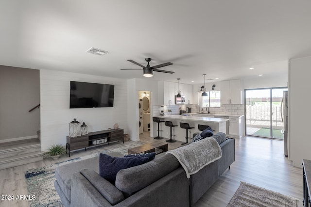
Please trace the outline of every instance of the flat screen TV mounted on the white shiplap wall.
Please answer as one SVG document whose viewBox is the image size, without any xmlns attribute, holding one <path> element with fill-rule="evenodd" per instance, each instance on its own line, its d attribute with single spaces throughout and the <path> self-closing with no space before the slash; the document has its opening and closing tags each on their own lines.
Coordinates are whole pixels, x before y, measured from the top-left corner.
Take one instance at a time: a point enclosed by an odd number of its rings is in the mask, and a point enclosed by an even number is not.
<svg viewBox="0 0 311 207">
<path fill-rule="evenodd" d="M 70 81 L 70 109 L 113 107 L 115 85 Z"/>
</svg>

